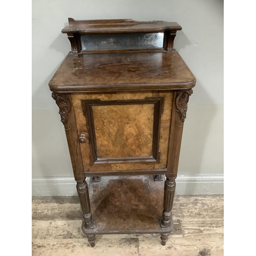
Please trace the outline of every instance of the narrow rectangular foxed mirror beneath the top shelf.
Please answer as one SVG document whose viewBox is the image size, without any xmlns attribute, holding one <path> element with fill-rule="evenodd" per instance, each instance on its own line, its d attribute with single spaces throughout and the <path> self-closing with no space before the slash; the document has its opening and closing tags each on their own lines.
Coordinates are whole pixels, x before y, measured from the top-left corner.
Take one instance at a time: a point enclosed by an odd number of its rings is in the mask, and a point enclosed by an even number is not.
<svg viewBox="0 0 256 256">
<path fill-rule="evenodd" d="M 163 32 L 83 34 L 81 46 L 82 51 L 163 48 Z"/>
</svg>

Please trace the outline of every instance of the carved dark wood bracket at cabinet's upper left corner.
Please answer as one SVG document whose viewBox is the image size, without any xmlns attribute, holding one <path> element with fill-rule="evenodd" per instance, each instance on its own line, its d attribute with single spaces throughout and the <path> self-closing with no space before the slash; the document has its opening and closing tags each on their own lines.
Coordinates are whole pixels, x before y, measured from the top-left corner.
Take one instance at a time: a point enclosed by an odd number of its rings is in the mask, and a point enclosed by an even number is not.
<svg viewBox="0 0 256 256">
<path fill-rule="evenodd" d="M 64 124 L 66 128 L 66 124 L 68 122 L 68 116 L 70 115 L 71 102 L 69 98 L 63 94 L 52 93 L 52 97 L 56 101 L 56 104 L 59 107 L 61 122 Z"/>
</svg>

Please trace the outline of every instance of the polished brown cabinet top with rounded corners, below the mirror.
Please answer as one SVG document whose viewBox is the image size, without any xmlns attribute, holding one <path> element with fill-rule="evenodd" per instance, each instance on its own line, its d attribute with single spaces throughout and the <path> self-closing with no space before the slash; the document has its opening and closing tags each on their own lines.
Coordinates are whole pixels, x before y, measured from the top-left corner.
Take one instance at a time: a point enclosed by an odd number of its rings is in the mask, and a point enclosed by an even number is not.
<svg viewBox="0 0 256 256">
<path fill-rule="evenodd" d="M 55 92 L 178 90 L 194 87 L 196 78 L 179 53 L 70 52 L 49 82 Z"/>
</svg>

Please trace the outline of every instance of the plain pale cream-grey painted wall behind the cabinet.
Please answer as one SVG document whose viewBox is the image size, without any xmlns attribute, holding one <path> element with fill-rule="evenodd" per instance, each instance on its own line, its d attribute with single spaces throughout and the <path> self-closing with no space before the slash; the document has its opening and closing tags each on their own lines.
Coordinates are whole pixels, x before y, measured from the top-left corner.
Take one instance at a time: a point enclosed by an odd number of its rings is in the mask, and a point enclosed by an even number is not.
<svg viewBox="0 0 256 256">
<path fill-rule="evenodd" d="M 72 176 L 48 82 L 70 51 L 61 29 L 75 19 L 133 18 L 182 26 L 175 48 L 197 78 L 185 121 L 179 174 L 223 174 L 223 1 L 32 0 L 32 174 Z"/>
</svg>

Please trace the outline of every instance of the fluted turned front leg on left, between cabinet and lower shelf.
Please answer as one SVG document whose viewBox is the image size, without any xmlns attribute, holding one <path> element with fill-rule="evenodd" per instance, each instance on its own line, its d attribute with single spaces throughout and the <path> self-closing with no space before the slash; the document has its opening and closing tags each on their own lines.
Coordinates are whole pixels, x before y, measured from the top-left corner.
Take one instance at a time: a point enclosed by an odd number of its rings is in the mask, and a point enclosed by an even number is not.
<svg viewBox="0 0 256 256">
<path fill-rule="evenodd" d="M 84 227 L 86 229 L 92 229 L 94 226 L 94 221 L 92 219 L 88 185 L 86 180 L 84 179 L 81 181 L 77 181 L 76 188 L 82 208 Z"/>
</svg>

